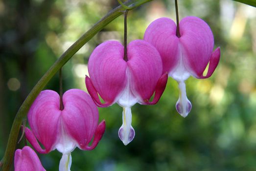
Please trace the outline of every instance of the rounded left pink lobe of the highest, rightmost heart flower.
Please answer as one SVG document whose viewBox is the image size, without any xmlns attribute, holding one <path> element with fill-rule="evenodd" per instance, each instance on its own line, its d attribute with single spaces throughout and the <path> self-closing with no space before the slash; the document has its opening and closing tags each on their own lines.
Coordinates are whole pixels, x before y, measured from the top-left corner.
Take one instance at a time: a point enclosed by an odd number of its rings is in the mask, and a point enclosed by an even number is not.
<svg viewBox="0 0 256 171">
<path fill-rule="evenodd" d="M 169 73 L 178 64 L 178 44 L 176 24 L 168 18 L 153 21 L 146 29 L 144 40 L 159 51 L 163 61 L 163 73 Z"/>
</svg>

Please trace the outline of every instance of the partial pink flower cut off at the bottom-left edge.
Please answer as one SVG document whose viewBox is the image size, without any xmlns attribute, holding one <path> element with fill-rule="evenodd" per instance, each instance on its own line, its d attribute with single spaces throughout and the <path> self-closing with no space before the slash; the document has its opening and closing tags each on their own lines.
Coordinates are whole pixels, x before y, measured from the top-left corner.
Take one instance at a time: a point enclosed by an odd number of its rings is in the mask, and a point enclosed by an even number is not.
<svg viewBox="0 0 256 171">
<path fill-rule="evenodd" d="M 14 156 L 14 171 L 46 171 L 37 154 L 30 147 L 17 149 Z"/>
</svg>

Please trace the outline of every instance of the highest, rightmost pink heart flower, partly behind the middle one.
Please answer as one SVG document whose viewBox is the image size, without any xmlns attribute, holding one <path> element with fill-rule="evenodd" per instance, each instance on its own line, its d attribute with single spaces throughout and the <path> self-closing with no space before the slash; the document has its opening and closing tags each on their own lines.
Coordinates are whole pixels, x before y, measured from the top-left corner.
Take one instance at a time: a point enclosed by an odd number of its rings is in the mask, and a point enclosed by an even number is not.
<svg viewBox="0 0 256 171">
<path fill-rule="evenodd" d="M 163 61 L 163 72 L 179 83 L 180 96 L 177 111 L 186 117 L 191 103 L 186 97 L 186 79 L 191 75 L 198 79 L 209 78 L 220 59 L 220 48 L 213 52 L 214 39 L 209 25 L 200 18 L 186 17 L 179 23 L 180 37 L 176 36 L 176 24 L 168 18 L 153 21 L 146 29 L 144 40 L 154 45 Z M 203 73 L 209 63 L 208 73 Z"/>
</svg>

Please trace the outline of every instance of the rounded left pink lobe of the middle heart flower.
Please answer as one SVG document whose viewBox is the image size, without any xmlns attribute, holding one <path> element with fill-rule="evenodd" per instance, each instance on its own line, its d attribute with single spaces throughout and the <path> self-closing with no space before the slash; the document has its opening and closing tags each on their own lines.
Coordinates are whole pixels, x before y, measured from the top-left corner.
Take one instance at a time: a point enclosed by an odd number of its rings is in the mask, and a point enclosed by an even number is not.
<svg viewBox="0 0 256 171">
<path fill-rule="evenodd" d="M 93 50 L 88 62 L 89 75 L 92 80 L 89 83 L 91 85 L 87 85 L 90 92 L 92 93 L 93 85 L 96 92 L 107 104 L 115 103 L 116 97 L 126 84 L 126 66 L 121 43 L 107 41 L 98 45 Z M 95 92 L 93 92 L 92 97 L 97 102 Z"/>
</svg>

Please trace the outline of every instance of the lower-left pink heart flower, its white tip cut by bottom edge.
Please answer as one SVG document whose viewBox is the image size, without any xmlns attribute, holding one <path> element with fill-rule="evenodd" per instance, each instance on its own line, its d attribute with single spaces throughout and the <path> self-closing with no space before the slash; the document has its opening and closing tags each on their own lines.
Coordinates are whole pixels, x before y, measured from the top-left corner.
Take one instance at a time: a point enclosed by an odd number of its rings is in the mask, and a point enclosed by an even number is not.
<svg viewBox="0 0 256 171">
<path fill-rule="evenodd" d="M 25 135 L 40 153 L 57 149 L 63 153 L 59 170 L 70 171 L 71 151 L 93 150 L 105 131 L 105 121 L 98 125 L 98 109 L 91 97 L 79 89 L 63 95 L 64 109 L 60 110 L 60 96 L 52 90 L 42 91 L 28 111 Z M 93 138 L 94 135 L 94 138 Z M 89 143 L 93 139 L 93 143 Z M 37 140 L 45 147 L 42 149 Z"/>
</svg>

